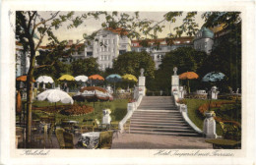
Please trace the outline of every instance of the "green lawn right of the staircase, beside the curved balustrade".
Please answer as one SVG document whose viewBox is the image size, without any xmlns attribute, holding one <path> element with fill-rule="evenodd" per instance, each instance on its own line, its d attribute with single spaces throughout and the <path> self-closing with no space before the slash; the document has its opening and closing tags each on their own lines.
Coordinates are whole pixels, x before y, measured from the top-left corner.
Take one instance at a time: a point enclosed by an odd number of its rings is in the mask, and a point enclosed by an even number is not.
<svg viewBox="0 0 256 165">
<path fill-rule="evenodd" d="M 209 102 L 210 100 L 202 100 L 202 99 L 184 99 L 184 101 L 187 104 L 188 107 L 188 116 L 190 120 L 201 130 L 203 130 L 204 127 L 204 120 L 205 117 L 200 114 L 198 111 L 198 108 L 204 104 Z M 220 100 L 212 100 L 213 102 L 220 101 Z M 224 101 L 224 100 L 222 100 Z M 223 131 L 221 128 L 221 125 L 217 122 L 216 123 L 216 132 L 218 136 L 223 135 Z"/>
</svg>

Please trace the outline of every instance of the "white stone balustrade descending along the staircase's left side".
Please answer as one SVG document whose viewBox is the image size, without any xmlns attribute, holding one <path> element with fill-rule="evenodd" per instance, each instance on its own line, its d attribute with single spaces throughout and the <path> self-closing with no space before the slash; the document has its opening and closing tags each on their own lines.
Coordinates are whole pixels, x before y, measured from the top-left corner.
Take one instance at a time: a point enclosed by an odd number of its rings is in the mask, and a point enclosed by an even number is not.
<svg viewBox="0 0 256 165">
<path fill-rule="evenodd" d="M 123 133 L 125 131 L 124 130 L 124 125 L 132 117 L 133 112 L 135 110 L 137 110 L 137 108 L 141 104 L 142 98 L 143 98 L 143 95 L 139 95 L 139 98 L 137 99 L 136 102 L 132 102 L 132 103 L 127 104 L 127 114 L 125 115 L 125 117 L 118 124 L 118 129 L 120 130 L 120 133 Z"/>
</svg>

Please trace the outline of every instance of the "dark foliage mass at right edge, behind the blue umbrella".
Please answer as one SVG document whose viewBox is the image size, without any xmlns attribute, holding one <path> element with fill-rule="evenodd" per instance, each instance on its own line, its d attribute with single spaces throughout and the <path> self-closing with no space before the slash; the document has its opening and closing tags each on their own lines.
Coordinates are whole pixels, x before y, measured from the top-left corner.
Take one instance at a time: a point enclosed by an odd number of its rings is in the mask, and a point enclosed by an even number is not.
<svg viewBox="0 0 256 165">
<path fill-rule="evenodd" d="M 201 74 L 216 71 L 226 76 L 226 81 L 220 83 L 228 91 L 227 86 L 241 88 L 241 25 L 237 24 L 223 36 L 216 38 L 214 50 L 202 68 Z M 223 82 L 223 81 L 222 81 Z"/>
</svg>

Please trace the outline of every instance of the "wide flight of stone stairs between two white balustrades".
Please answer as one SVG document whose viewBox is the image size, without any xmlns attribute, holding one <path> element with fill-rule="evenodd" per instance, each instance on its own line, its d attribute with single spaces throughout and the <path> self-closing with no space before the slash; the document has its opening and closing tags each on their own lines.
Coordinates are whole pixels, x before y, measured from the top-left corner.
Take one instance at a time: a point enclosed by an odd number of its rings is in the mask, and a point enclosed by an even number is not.
<svg viewBox="0 0 256 165">
<path fill-rule="evenodd" d="M 144 96 L 131 117 L 130 134 L 200 137 L 183 120 L 171 96 Z"/>
</svg>

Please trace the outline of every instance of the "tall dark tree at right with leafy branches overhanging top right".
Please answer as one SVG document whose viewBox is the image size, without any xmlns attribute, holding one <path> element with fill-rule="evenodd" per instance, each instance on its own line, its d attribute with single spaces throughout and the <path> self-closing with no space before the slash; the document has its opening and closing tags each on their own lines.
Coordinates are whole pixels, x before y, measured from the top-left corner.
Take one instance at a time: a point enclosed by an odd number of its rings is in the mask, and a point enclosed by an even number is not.
<svg viewBox="0 0 256 165">
<path fill-rule="evenodd" d="M 168 12 L 164 19 L 175 22 L 177 17 L 182 16 L 182 12 Z M 195 23 L 197 12 L 188 12 L 183 23 L 179 27 L 174 27 L 175 34 L 170 35 L 167 40 L 171 40 L 182 34 L 193 35 L 198 30 Z M 201 15 L 205 20 L 203 27 L 222 26 L 223 36 L 215 38 L 215 46 L 210 56 L 198 68 L 200 75 L 209 72 L 223 72 L 227 77 L 227 82 L 231 87 L 241 87 L 241 13 L 240 12 L 205 12 Z M 216 44 L 217 43 L 217 44 Z M 223 84 L 224 84 L 223 83 Z M 225 87 L 227 87 L 225 84 Z M 224 85 L 223 85 L 224 87 Z"/>
</svg>

